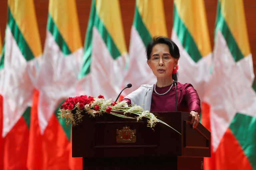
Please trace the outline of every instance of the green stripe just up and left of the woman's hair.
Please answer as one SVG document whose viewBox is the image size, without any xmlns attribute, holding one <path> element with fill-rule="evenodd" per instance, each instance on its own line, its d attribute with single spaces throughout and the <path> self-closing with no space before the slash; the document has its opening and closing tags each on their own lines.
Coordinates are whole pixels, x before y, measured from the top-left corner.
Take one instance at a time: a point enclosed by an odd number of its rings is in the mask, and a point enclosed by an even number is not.
<svg viewBox="0 0 256 170">
<path fill-rule="evenodd" d="M 135 4 L 135 13 L 134 13 L 134 19 L 133 19 L 133 25 L 136 28 L 136 30 L 138 31 L 141 40 L 143 41 L 145 47 L 147 46 L 147 44 L 152 40 L 151 35 L 147 29 L 147 27 L 145 26 L 145 24 L 143 23 L 138 7 Z"/>
</svg>

